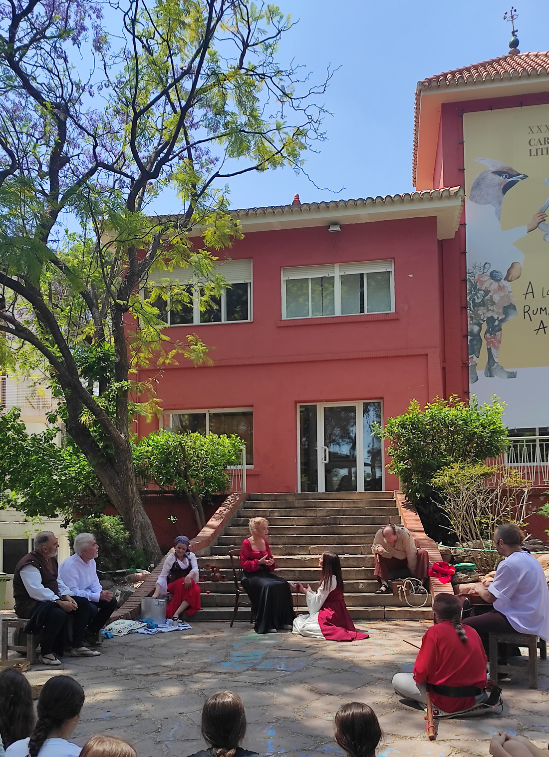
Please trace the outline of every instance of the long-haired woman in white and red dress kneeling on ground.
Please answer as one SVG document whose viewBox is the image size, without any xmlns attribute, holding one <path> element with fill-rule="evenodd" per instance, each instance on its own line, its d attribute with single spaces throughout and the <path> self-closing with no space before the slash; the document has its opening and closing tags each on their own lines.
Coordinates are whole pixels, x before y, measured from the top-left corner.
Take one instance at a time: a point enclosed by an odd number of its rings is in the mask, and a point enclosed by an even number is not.
<svg viewBox="0 0 549 757">
<path fill-rule="evenodd" d="M 305 594 L 310 615 L 298 615 L 293 621 L 293 633 L 330 641 L 368 639 L 368 634 L 357 631 L 343 599 L 343 574 L 339 556 L 324 552 L 318 560 L 322 569 L 317 591 L 307 584 L 296 588 Z"/>
</svg>

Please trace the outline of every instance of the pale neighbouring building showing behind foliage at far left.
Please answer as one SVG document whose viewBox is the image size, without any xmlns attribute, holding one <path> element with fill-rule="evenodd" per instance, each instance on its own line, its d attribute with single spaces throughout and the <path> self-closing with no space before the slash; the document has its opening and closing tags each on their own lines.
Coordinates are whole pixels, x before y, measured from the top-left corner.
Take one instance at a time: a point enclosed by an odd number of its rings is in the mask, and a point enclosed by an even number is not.
<svg viewBox="0 0 549 757">
<path fill-rule="evenodd" d="M 33 386 L 28 379 L 16 381 L 8 376 L 0 377 L 0 407 L 9 410 L 19 407 L 21 420 L 28 434 L 39 434 L 48 428 L 45 414 L 51 410 L 51 391 L 48 388 Z M 60 438 L 59 438 L 60 441 Z M 0 572 L 13 577 L 15 565 L 33 548 L 33 535 L 38 531 L 53 531 L 59 540 L 57 559 L 62 562 L 70 556 L 67 529 L 61 527 L 61 519 L 44 519 L 41 522 L 29 520 L 17 510 L 8 508 L 0 510 Z M 5 606 L 14 606 L 11 581 L 6 587 Z"/>
</svg>

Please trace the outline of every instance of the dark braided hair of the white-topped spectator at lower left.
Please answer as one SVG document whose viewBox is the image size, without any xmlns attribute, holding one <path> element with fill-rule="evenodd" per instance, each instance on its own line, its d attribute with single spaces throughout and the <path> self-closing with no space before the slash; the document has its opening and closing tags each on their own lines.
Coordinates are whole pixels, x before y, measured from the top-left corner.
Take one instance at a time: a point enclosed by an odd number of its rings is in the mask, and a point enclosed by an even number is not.
<svg viewBox="0 0 549 757">
<path fill-rule="evenodd" d="M 79 715 L 83 704 L 84 690 L 78 681 L 68 675 L 49 678 L 40 692 L 36 706 L 38 720 L 29 739 L 30 757 L 37 757 L 51 732 Z"/>
</svg>

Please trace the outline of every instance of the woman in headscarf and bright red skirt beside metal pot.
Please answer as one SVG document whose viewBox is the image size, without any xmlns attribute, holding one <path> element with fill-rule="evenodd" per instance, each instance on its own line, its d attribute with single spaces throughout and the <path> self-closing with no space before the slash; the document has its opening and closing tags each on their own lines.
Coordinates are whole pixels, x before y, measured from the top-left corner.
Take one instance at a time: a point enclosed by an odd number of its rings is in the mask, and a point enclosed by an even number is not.
<svg viewBox="0 0 549 757">
<path fill-rule="evenodd" d="M 183 612 L 187 612 L 188 617 L 192 618 L 200 610 L 197 558 L 189 550 L 188 537 L 176 536 L 174 545 L 175 554 L 168 555 L 164 560 L 153 599 L 166 597 L 170 593 L 173 599 L 166 607 L 166 618 L 179 620 Z"/>
</svg>

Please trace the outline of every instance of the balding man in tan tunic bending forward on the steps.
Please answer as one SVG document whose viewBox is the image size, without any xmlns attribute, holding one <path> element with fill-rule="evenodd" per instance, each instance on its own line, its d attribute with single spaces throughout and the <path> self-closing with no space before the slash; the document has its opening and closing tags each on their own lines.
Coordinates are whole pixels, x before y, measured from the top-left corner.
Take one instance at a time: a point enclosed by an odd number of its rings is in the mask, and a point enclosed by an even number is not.
<svg viewBox="0 0 549 757">
<path fill-rule="evenodd" d="M 374 575 L 380 582 L 377 594 L 389 591 L 389 571 L 408 571 L 408 575 L 424 581 L 429 574 L 429 553 L 418 550 L 414 537 L 403 526 L 390 523 L 380 528 L 372 544 L 374 555 Z"/>
</svg>

